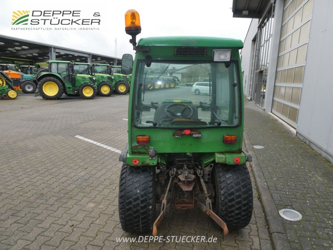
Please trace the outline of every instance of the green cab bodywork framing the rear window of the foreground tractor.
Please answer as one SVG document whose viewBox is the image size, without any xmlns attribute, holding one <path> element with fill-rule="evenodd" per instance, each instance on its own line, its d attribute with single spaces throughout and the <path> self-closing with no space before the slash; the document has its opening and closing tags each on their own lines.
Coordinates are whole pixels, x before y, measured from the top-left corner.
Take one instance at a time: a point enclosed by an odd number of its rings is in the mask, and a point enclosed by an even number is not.
<svg viewBox="0 0 333 250">
<path fill-rule="evenodd" d="M 206 47 L 204 56 L 174 56 L 175 46 L 194 46 Z M 236 127 L 213 127 L 213 128 L 196 128 L 201 132 L 201 138 L 192 138 L 191 135 L 182 135 L 180 138 L 173 137 L 173 132 L 178 129 L 161 129 L 161 128 L 139 128 L 132 122 L 132 103 L 134 99 L 134 89 L 130 90 L 129 116 L 128 116 L 128 141 L 129 151 L 127 154 L 127 164 L 134 165 L 132 159 L 134 156 L 143 154 L 148 155 L 150 148 L 155 148 L 160 153 L 211 153 L 202 155 L 201 162 L 206 164 L 209 161 L 216 161 L 225 164 L 235 164 L 233 158 L 238 156 L 241 160 L 239 164 L 246 162 L 246 156 L 242 153 L 243 124 L 244 124 L 244 99 L 242 87 L 242 74 L 240 69 L 239 49 L 243 47 L 241 40 L 228 38 L 211 38 L 211 37 L 150 37 L 140 39 L 139 49 L 149 49 L 150 51 L 138 51 L 135 55 L 133 66 L 132 84 L 135 83 L 137 64 L 139 60 L 145 60 L 147 55 L 152 60 L 180 60 L 180 61 L 211 61 L 213 49 L 230 49 L 232 50 L 231 60 L 238 62 L 240 76 L 241 106 L 240 123 Z M 237 70 L 237 71 L 238 71 Z M 191 129 L 190 127 L 188 129 Z M 236 143 L 223 143 L 223 135 L 236 135 Z M 138 135 L 149 135 L 150 143 L 148 145 L 137 145 L 136 137 Z M 208 157 L 208 158 L 207 158 Z M 146 159 L 146 158 L 145 158 Z M 147 162 L 147 160 L 145 160 Z M 139 163 L 140 164 L 140 163 Z"/>
</svg>

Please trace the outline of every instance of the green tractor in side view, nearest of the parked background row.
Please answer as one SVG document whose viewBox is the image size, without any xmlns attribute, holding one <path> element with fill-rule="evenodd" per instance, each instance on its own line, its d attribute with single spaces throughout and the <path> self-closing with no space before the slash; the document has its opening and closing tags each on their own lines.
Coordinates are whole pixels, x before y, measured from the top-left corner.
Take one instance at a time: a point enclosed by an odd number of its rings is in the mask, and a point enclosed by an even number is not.
<svg viewBox="0 0 333 250">
<path fill-rule="evenodd" d="M 88 72 L 74 72 L 74 63 L 70 61 L 48 61 L 48 72 L 37 78 L 38 93 L 47 100 L 55 100 L 65 93 L 67 96 L 81 96 L 94 99 L 97 94 L 96 78 Z"/>
</svg>

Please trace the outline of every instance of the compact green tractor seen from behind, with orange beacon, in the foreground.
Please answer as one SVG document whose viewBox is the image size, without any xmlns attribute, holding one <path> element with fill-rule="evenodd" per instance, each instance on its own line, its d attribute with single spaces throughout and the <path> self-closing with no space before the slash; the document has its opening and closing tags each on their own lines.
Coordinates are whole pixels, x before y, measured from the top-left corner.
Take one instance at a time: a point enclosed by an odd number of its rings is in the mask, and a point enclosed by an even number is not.
<svg viewBox="0 0 333 250">
<path fill-rule="evenodd" d="M 125 54 L 122 73 L 132 72 L 128 145 L 119 181 L 119 218 L 124 231 L 157 227 L 171 208 L 198 206 L 223 229 L 247 226 L 253 210 L 251 177 L 242 151 L 244 100 L 239 49 L 241 40 L 215 37 L 149 37 L 135 10 L 125 14 L 126 33 L 136 50 Z M 190 88 L 147 90 L 147 71 L 177 65 L 187 73 L 201 67 L 209 94 Z M 162 70 L 163 71 L 163 70 Z M 156 204 L 161 210 L 155 217 Z"/>
</svg>

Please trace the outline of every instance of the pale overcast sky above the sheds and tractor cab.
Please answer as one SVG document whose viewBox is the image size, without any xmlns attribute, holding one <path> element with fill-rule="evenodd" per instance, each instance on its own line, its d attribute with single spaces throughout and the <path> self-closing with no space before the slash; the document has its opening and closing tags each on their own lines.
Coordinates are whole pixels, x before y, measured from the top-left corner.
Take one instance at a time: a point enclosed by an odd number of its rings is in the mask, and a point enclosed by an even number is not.
<svg viewBox="0 0 333 250">
<path fill-rule="evenodd" d="M 132 45 L 129 43 L 131 37 L 125 33 L 124 16 L 128 9 L 135 9 L 140 14 L 142 31 L 137 36 L 137 41 L 150 36 L 212 36 L 244 41 L 251 19 L 232 18 L 231 7 L 232 0 L 1 1 L 0 34 L 107 56 L 116 55 L 117 37 L 117 57 L 122 57 L 124 53 L 134 55 Z M 11 28 L 55 27 L 55 25 L 11 25 L 12 13 L 16 10 L 80 10 L 81 17 L 78 18 L 100 18 L 101 24 L 56 26 L 100 28 L 95 31 L 15 31 Z M 95 12 L 99 12 L 100 17 L 93 17 Z"/>
</svg>

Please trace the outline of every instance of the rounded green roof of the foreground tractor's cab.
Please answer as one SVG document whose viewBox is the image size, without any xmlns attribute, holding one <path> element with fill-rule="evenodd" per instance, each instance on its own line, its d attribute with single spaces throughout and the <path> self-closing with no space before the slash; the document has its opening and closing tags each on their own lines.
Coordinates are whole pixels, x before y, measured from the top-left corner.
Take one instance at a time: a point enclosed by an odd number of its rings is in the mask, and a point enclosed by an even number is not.
<svg viewBox="0 0 333 250">
<path fill-rule="evenodd" d="M 165 36 L 141 38 L 138 46 L 226 47 L 243 48 L 238 39 L 199 36 Z"/>
</svg>

